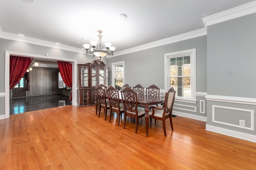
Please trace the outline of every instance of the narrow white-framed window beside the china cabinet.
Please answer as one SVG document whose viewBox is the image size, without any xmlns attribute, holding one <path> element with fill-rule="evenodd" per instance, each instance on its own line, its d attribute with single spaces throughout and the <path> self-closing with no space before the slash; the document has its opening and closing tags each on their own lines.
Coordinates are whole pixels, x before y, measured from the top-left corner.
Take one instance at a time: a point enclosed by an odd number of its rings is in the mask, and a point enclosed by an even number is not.
<svg viewBox="0 0 256 170">
<path fill-rule="evenodd" d="M 117 90 L 124 86 L 124 62 L 112 63 L 112 86 Z"/>
</svg>

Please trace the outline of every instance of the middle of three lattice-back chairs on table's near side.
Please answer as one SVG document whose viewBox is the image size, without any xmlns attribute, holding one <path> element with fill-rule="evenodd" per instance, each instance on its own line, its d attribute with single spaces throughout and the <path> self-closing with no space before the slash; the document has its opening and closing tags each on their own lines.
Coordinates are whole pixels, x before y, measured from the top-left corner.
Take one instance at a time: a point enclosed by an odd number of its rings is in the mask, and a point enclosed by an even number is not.
<svg viewBox="0 0 256 170">
<path fill-rule="evenodd" d="M 112 113 L 116 112 L 118 114 L 118 126 L 119 126 L 122 113 L 124 113 L 124 105 L 120 103 L 121 96 L 119 96 L 119 91 L 116 90 L 113 86 L 110 86 L 107 89 L 107 96 L 110 104 L 109 122 L 111 121 Z"/>
</svg>

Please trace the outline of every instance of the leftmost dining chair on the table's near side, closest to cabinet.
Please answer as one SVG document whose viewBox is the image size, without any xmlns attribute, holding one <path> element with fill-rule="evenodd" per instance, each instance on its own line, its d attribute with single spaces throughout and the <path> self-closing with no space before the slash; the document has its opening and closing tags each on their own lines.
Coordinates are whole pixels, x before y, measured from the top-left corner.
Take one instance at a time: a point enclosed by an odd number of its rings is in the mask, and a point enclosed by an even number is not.
<svg viewBox="0 0 256 170">
<path fill-rule="evenodd" d="M 106 89 L 103 88 L 102 86 L 97 87 L 97 97 L 98 97 L 98 105 L 99 105 L 98 117 L 100 117 L 100 111 L 101 111 L 101 108 L 103 108 L 105 113 L 105 120 L 106 120 L 107 112 L 108 112 L 108 109 L 110 109 L 110 106 L 109 106 L 109 102 L 106 100 Z"/>
</svg>

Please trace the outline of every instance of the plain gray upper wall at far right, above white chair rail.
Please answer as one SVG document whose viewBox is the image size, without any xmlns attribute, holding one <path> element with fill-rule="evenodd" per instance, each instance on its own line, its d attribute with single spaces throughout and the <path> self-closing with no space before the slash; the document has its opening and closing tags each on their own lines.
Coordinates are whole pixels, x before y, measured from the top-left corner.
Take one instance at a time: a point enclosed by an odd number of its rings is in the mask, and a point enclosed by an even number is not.
<svg viewBox="0 0 256 170">
<path fill-rule="evenodd" d="M 256 14 L 207 28 L 207 94 L 256 97 L 255 30 Z"/>
</svg>

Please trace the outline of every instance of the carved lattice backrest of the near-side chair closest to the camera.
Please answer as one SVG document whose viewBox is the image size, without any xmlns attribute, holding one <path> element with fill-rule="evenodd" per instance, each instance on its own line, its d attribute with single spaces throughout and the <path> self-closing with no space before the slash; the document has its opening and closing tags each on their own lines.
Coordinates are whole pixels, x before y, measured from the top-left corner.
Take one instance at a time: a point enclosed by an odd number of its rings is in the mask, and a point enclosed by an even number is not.
<svg viewBox="0 0 256 170">
<path fill-rule="evenodd" d="M 121 91 L 121 96 L 124 110 L 138 114 L 138 94 L 132 88 L 126 87 Z"/>
</svg>

